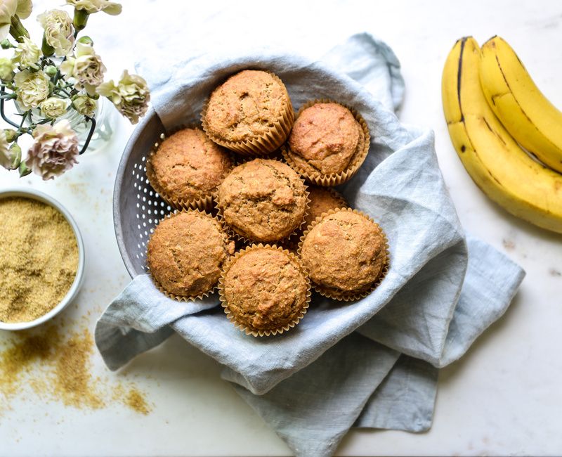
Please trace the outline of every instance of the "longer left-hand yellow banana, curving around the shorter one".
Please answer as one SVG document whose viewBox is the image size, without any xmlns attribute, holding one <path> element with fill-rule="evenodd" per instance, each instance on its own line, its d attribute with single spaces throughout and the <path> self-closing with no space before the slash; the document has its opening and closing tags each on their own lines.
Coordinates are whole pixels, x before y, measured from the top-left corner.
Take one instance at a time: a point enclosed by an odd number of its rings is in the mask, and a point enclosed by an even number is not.
<svg viewBox="0 0 562 457">
<path fill-rule="evenodd" d="M 481 54 L 459 39 L 443 69 L 443 110 L 466 171 L 489 198 L 521 219 L 562 233 L 562 175 L 525 153 L 490 109 L 480 85 Z"/>
</svg>

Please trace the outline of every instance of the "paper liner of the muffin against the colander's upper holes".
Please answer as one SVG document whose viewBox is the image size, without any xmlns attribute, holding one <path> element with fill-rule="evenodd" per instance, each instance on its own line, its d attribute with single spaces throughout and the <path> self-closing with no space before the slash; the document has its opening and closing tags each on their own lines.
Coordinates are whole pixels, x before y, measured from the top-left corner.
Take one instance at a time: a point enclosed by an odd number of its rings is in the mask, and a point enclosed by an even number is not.
<svg viewBox="0 0 562 457">
<path fill-rule="evenodd" d="M 148 178 L 148 182 L 150 183 L 150 186 L 152 186 L 152 188 L 160 195 L 160 197 L 162 197 L 162 200 L 164 200 L 171 207 L 176 208 L 176 210 L 211 211 L 213 210 L 213 201 L 216 198 L 216 190 L 208 193 L 207 195 L 202 195 L 200 198 L 193 198 L 191 200 L 175 198 L 174 196 L 164 191 L 164 188 L 160 186 L 156 174 L 154 172 L 154 169 L 152 168 L 152 156 L 155 155 L 159 146 L 168 136 L 171 136 L 183 129 L 199 129 L 199 128 L 200 128 L 199 125 L 186 124 L 186 125 L 182 125 L 181 127 L 176 127 L 175 129 L 171 129 L 168 132 L 168 134 L 163 132 L 162 134 L 159 135 L 159 141 L 154 143 L 154 145 L 152 145 L 152 148 L 150 148 L 150 153 L 146 159 L 146 177 Z M 231 153 L 231 151 L 228 152 L 231 161 L 231 165 L 229 169 L 230 172 L 235 167 L 236 159 L 234 155 Z"/>
</svg>

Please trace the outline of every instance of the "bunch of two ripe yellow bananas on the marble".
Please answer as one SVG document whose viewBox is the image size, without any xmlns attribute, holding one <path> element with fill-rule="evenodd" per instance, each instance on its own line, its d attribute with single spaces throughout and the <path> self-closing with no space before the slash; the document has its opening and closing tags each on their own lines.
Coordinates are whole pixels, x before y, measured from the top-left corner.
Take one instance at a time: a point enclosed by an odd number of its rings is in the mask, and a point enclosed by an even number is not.
<svg viewBox="0 0 562 457">
<path fill-rule="evenodd" d="M 466 171 L 488 197 L 562 233 L 562 113 L 537 89 L 509 45 L 459 39 L 443 69 L 443 110 Z M 551 169 L 531 157 L 539 157 Z"/>
</svg>

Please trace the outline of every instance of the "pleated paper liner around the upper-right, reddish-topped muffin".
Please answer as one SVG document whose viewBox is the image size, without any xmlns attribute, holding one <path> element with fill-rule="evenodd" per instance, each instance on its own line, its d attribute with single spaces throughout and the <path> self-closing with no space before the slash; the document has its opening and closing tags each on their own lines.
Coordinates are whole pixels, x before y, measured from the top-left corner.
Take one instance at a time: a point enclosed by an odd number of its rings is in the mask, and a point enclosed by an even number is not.
<svg viewBox="0 0 562 457">
<path fill-rule="evenodd" d="M 292 169 L 294 169 L 297 173 L 301 174 L 301 176 L 303 176 L 306 181 L 323 187 L 338 186 L 339 184 L 344 184 L 346 181 L 349 181 L 355 175 L 355 173 L 358 172 L 358 169 L 360 169 L 363 162 L 365 162 L 365 157 L 367 157 L 369 148 L 371 146 L 371 135 L 369 132 L 369 127 L 367 126 L 367 122 L 365 122 L 365 119 L 363 119 L 362 115 L 360 115 L 360 113 L 355 110 L 355 108 L 344 105 L 344 103 L 330 100 L 329 98 L 317 98 L 315 100 L 306 102 L 301 106 L 299 112 L 296 113 L 296 119 L 299 118 L 301 113 L 306 110 L 306 108 L 310 108 L 317 103 L 336 103 L 337 105 L 343 106 L 344 108 L 347 108 L 351 111 L 351 114 L 353 115 L 353 117 L 355 117 L 355 120 L 358 122 L 363 131 L 363 139 L 360 139 L 360 142 L 357 146 L 357 149 L 360 150 L 360 152 L 354 153 L 355 157 L 353 157 L 352 162 L 343 172 L 331 174 L 322 174 L 320 172 L 311 172 L 310 170 L 303 169 L 303 167 L 301 167 L 294 161 L 291 155 L 294 153 L 292 152 L 291 148 L 289 148 L 288 141 L 281 147 L 281 152 L 287 164 L 289 164 L 289 166 L 292 167 Z"/>
</svg>

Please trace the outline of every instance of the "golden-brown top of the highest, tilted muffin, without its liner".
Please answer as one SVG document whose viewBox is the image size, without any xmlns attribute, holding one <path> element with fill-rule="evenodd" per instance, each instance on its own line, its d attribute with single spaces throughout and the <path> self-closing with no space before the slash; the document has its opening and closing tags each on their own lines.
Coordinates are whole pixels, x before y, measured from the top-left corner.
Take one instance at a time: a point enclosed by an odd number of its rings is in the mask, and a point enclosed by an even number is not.
<svg viewBox="0 0 562 457">
<path fill-rule="evenodd" d="M 218 86 L 207 105 L 209 134 L 226 141 L 263 136 L 291 109 L 285 85 L 268 72 L 243 70 Z"/>
</svg>

